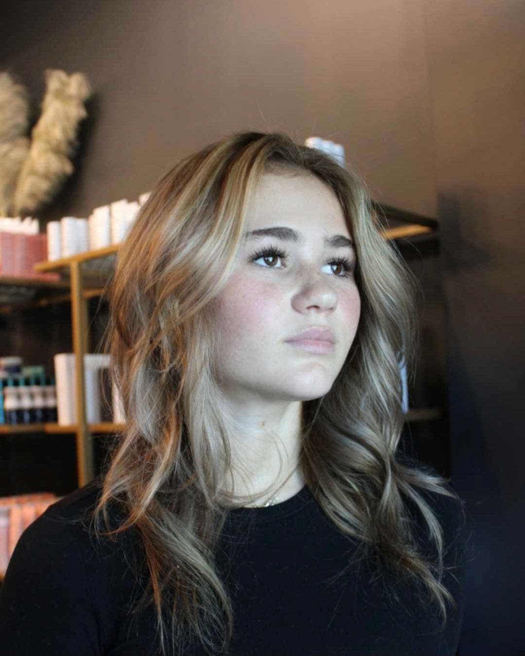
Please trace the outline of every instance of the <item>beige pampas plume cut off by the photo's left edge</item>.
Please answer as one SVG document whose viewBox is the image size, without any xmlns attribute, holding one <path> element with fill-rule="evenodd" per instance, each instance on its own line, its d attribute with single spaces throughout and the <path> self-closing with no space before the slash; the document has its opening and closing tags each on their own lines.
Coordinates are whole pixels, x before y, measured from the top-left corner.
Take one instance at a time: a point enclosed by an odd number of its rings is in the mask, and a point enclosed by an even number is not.
<svg viewBox="0 0 525 656">
<path fill-rule="evenodd" d="M 28 156 L 29 99 L 24 85 L 0 73 L 0 216 L 7 216 L 24 159 Z"/>
</svg>

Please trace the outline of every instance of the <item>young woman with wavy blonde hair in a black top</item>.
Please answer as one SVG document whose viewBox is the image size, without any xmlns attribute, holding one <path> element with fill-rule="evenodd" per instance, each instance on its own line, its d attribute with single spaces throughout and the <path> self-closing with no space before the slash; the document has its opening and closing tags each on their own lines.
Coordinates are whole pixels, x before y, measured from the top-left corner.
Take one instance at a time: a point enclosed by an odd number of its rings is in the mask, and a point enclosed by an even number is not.
<svg viewBox="0 0 525 656">
<path fill-rule="evenodd" d="M 110 287 L 125 432 L 20 538 L 5 653 L 454 655 L 462 502 L 400 450 L 416 291 L 319 150 L 243 132 L 180 161 Z"/>
</svg>

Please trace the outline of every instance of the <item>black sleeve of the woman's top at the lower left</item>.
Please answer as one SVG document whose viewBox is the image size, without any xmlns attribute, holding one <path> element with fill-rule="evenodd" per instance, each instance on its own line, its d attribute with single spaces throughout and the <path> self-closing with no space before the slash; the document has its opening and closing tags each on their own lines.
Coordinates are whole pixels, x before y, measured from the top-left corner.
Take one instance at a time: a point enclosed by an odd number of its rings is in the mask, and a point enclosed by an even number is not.
<svg viewBox="0 0 525 656">
<path fill-rule="evenodd" d="M 40 516 L 18 539 L 0 586 L 0 651 L 99 655 L 99 626 L 74 528 Z"/>
</svg>

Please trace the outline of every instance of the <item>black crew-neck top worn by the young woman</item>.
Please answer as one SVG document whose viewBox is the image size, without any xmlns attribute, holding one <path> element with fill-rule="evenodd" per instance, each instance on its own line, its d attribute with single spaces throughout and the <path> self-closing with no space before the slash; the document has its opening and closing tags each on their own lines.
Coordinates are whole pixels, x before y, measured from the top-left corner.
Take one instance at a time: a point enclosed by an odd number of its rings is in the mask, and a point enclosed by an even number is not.
<svg viewBox="0 0 525 656">
<path fill-rule="evenodd" d="M 95 505 L 99 491 L 100 478 L 54 503 L 22 533 L 0 587 L 0 653 L 160 653 L 154 606 L 138 617 L 127 612 L 137 593 L 131 543 L 106 539 L 95 548 L 93 534 L 70 521 Z M 356 543 L 327 519 L 305 486 L 274 506 L 233 510 L 226 520 L 217 564 L 234 607 L 228 653 L 455 656 L 467 533 L 457 501 L 425 495 L 444 528 L 445 565 L 455 566 L 443 579 L 457 604 L 447 604 L 444 630 L 436 607 L 421 603 L 413 584 L 398 584 L 395 599 L 366 561 L 329 581 L 348 564 Z"/>
</svg>

